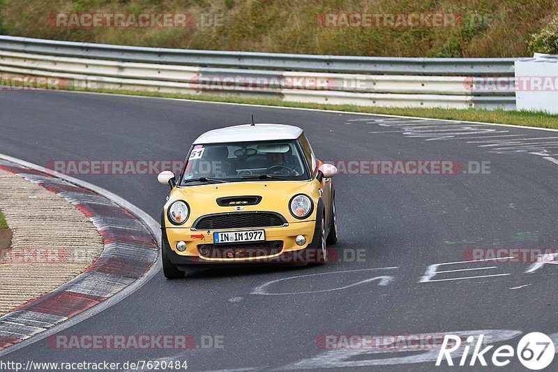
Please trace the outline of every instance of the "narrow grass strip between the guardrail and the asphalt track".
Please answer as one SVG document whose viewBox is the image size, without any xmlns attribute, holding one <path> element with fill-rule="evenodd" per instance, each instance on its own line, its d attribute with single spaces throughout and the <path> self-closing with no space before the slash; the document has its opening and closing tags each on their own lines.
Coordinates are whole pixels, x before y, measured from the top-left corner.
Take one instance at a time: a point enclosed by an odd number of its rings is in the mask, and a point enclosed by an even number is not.
<svg viewBox="0 0 558 372">
<path fill-rule="evenodd" d="M 285 102 L 264 98 L 241 98 L 238 96 L 216 96 L 209 94 L 164 94 L 150 91 L 86 89 L 76 91 L 91 91 L 97 93 L 126 94 L 133 96 L 151 96 L 162 98 L 181 98 L 197 101 L 215 101 L 228 103 L 244 103 L 250 105 L 266 105 L 278 107 L 301 107 L 319 110 L 336 110 L 346 112 L 364 112 L 368 114 L 401 115 L 408 117 L 424 117 L 430 119 L 448 119 L 460 121 L 477 121 L 483 123 L 511 124 L 533 126 L 538 128 L 558 129 L 558 115 L 546 112 L 504 111 L 480 109 L 442 109 L 442 108 L 414 108 L 414 107 L 370 107 L 356 105 L 324 105 L 316 103 Z"/>
</svg>

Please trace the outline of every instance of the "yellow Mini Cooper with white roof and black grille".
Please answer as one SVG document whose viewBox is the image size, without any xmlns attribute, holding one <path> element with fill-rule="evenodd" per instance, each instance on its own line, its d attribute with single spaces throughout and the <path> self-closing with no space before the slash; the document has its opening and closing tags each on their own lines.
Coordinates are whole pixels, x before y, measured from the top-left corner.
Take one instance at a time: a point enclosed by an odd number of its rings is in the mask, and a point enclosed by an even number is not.
<svg viewBox="0 0 558 372">
<path fill-rule="evenodd" d="M 161 215 L 167 278 L 227 265 L 323 264 L 337 241 L 337 168 L 318 161 L 301 128 L 246 124 L 194 141 Z"/>
</svg>

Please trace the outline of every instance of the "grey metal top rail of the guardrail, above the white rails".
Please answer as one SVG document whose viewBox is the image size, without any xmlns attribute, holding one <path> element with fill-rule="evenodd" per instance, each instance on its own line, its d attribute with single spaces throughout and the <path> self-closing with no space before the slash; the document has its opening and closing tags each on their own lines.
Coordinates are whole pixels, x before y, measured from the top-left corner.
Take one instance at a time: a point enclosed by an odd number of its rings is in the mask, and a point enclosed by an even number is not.
<svg viewBox="0 0 558 372">
<path fill-rule="evenodd" d="M 110 61 L 186 66 L 262 68 L 270 70 L 379 75 L 513 76 L 515 58 L 351 57 L 315 54 L 220 52 L 156 47 L 75 43 L 0 36 L 0 50 Z"/>
</svg>

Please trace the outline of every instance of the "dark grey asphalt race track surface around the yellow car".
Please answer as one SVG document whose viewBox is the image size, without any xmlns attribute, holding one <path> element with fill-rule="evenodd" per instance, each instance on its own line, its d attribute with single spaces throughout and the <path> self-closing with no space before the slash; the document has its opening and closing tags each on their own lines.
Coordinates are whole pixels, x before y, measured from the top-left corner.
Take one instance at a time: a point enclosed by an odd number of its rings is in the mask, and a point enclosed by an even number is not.
<svg viewBox="0 0 558 372">
<path fill-rule="evenodd" d="M 558 132 L 151 98 L 0 91 L 0 153 L 38 165 L 77 159 L 182 160 L 197 135 L 246 123 L 250 114 L 259 122 L 300 126 L 324 160 L 453 160 L 464 164 L 464 170 L 469 161 L 478 161 L 490 162 L 490 173 L 340 174 L 335 177 L 340 225 L 335 250 L 340 257 L 363 250 L 363 260 L 322 267 L 208 271 L 176 281 L 159 273 L 123 301 L 62 332 L 189 334 L 197 340 L 211 335 L 223 338 L 223 348 L 57 350 L 42 340 L 1 359 L 187 360 L 192 371 L 328 367 L 444 371 L 448 367 L 434 366 L 437 352 L 331 351 L 320 348 L 317 340 L 322 335 L 462 332 L 509 338 L 495 345 L 516 345 L 522 334 L 543 332 L 558 341 L 558 265 L 526 273 L 532 269 L 530 263 L 465 262 L 437 267 L 450 271 L 444 274 L 427 274 L 430 265 L 465 260 L 471 247 L 558 248 Z M 155 175 L 74 177 L 112 191 L 156 220 L 168 191 Z M 288 279 L 269 283 L 282 278 Z M 372 278 L 377 279 L 368 280 Z M 557 363 L 555 359 L 552 366 Z M 525 368 L 513 359 L 509 370 Z"/>
</svg>

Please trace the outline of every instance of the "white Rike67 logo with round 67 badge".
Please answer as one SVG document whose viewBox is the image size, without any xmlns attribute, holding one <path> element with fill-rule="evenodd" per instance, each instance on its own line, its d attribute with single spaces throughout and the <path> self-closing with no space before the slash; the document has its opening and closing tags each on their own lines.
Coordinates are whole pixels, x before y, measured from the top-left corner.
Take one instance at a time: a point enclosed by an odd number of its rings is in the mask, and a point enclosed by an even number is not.
<svg viewBox="0 0 558 372">
<path fill-rule="evenodd" d="M 465 347 L 462 346 L 462 338 L 453 334 L 446 334 L 442 348 L 439 351 L 436 366 L 442 365 L 444 359 L 448 366 L 453 366 L 453 358 L 458 359 L 459 366 L 487 366 L 487 361 L 492 362 L 493 366 L 502 367 L 511 362 L 511 358 L 517 356 L 521 364 L 531 370 L 543 369 L 552 363 L 555 354 L 555 345 L 552 339 L 540 332 L 531 332 L 523 336 L 516 350 L 510 345 L 502 345 L 495 350 L 494 345 L 487 345 L 483 348 L 484 335 L 476 338 L 469 336 L 466 338 Z M 472 350 L 471 357 L 469 352 Z M 491 357 L 490 351 L 492 350 Z M 456 352 L 458 351 L 458 352 Z M 460 357 L 451 355 L 452 352 L 460 354 Z M 469 360 L 467 360 L 469 359 Z"/>
</svg>

